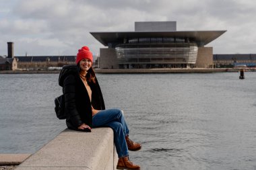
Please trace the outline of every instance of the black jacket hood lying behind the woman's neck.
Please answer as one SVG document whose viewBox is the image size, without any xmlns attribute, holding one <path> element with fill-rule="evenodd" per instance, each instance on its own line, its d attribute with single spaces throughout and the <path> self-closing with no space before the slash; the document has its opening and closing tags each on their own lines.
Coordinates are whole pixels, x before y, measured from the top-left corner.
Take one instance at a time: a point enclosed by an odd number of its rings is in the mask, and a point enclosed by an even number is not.
<svg viewBox="0 0 256 170">
<path fill-rule="evenodd" d="M 61 87 L 63 87 L 64 80 L 68 75 L 79 75 L 77 65 L 65 65 L 62 67 L 61 73 L 59 73 L 59 85 Z"/>
</svg>

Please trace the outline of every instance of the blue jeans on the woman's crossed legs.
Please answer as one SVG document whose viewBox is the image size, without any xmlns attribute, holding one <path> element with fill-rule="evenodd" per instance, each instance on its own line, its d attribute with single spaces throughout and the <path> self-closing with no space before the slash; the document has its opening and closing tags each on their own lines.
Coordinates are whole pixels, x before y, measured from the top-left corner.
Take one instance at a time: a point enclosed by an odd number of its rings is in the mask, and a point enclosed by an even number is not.
<svg viewBox="0 0 256 170">
<path fill-rule="evenodd" d="M 118 157 L 127 157 L 128 147 L 125 136 L 129 134 L 129 129 L 123 116 L 123 111 L 119 109 L 101 110 L 92 117 L 92 128 L 110 127 L 114 131 L 114 142 L 117 148 Z"/>
</svg>

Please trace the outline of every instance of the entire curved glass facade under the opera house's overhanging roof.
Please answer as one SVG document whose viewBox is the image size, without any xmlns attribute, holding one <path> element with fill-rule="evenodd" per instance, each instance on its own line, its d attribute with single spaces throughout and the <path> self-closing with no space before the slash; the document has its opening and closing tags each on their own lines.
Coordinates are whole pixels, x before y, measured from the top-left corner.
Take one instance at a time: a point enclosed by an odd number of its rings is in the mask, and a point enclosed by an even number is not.
<svg viewBox="0 0 256 170">
<path fill-rule="evenodd" d="M 120 69 L 193 67 L 198 46 L 185 38 L 131 38 L 115 46 Z"/>
</svg>

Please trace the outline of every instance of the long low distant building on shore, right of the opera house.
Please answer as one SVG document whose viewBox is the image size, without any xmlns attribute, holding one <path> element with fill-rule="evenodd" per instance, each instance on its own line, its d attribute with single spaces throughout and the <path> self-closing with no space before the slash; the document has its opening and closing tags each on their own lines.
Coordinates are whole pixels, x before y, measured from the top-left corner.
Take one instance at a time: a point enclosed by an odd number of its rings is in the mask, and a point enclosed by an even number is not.
<svg viewBox="0 0 256 170">
<path fill-rule="evenodd" d="M 214 54 L 214 65 L 217 68 L 232 68 L 237 65 L 256 67 L 256 54 Z"/>
</svg>

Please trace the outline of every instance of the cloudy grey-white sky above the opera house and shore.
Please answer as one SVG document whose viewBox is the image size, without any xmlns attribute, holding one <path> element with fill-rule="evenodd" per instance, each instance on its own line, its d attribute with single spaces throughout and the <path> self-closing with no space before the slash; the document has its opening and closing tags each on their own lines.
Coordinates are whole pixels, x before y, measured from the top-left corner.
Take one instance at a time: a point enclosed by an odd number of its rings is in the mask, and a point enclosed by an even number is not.
<svg viewBox="0 0 256 170">
<path fill-rule="evenodd" d="M 256 54 L 255 0 L 0 0 L 0 55 L 76 55 L 107 48 L 90 32 L 133 32 L 135 22 L 176 21 L 177 31 L 227 30 L 214 54 Z"/>
</svg>

